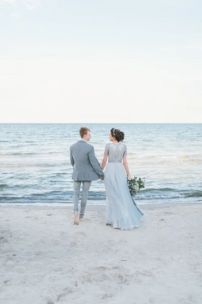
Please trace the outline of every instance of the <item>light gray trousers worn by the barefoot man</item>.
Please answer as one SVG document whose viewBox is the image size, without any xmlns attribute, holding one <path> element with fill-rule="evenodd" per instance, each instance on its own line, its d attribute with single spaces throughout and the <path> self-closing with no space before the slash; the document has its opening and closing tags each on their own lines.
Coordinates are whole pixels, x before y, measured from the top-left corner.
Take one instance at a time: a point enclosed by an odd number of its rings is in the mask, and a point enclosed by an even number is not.
<svg viewBox="0 0 202 304">
<path fill-rule="evenodd" d="M 82 197 L 81 197 L 81 210 L 79 213 L 79 217 L 82 218 L 85 212 L 85 207 L 87 204 L 87 196 L 88 191 L 91 185 L 91 181 L 85 181 L 82 180 L 83 183 L 83 189 L 82 189 Z M 74 213 L 78 210 L 79 207 L 79 194 L 80 194 L 80 187 L 81 187 L 81 180 L 74 181 L 74 195 L 73 195 L 73 207 L 74 207 Z"/>
</svg>

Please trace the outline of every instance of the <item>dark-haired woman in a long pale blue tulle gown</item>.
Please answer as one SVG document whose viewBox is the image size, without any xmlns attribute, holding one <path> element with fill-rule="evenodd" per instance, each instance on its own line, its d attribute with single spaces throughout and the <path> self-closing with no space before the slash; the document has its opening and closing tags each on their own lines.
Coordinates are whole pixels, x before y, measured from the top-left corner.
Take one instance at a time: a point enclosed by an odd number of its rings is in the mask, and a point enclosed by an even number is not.
<svg viewBox="0 0 202 304">
<path fill-rule="evenodd" d="M 139 227 L 143 212 L 133 203 L 128 187 L 127 179 L 131 180 L 131 176 L 127 163 L 127 148 L 122 143 L 124 133 L 113 128 L 109 135 L 111 143 L 106 145 L 102 163 L 103 170 L 109 158 L 104 179 L 107 224 L 118 229 L 133 229 Z"/>
</svg>

